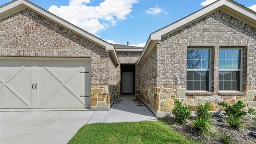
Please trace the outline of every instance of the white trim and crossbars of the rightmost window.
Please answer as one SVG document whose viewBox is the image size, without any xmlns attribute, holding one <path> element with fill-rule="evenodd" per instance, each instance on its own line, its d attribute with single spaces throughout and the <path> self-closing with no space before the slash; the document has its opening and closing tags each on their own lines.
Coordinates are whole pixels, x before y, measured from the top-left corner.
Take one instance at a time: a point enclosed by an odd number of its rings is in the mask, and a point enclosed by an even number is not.
<svg viewBox="0 0 256 144">
<path fill-rule="evenodd" d="M 244 56 L 244 48 L 237 48 L 237 47 L 230 47 L 230 48 L 219 48 L 219 50 L 222 49 L 240 49 L 241 50 L 241 58 L 240 58 L 240 69 L 219 69 L 219 71 L 234 71 L 240 72 L 240 90 L 219 90 L 219 92 L 223 93 L 223 92 L 242 92 L 242 87 L 243 87 L 243 56 Z M 218 80 L 219 81 L 219 80 Z"/>
</svg>

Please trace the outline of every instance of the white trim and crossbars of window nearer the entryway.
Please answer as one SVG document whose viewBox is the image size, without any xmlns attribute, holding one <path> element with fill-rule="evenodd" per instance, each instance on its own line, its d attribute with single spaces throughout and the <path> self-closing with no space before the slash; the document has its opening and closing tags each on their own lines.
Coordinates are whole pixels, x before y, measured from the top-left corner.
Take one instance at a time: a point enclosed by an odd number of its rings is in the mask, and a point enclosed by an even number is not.
<svg viewBox="0 0 256 144">
<path fill-rule="evenodd" d="M 208 83 L 209 83 L 209 90 L 206 91 L 206 90 L 187 90 L 187 92 L 189 93 L 193 93 L 193 92 L 201 92 L 201 93 L 208 93 L 208 92 L 211 92 L 211 51 L 212 51 L 212 47 L 209 47 L 209 48 L 200 48 L 200 47 L 193 47 L 193 48 L 187 48 L 187 50 L 189 49 L 208 49 L 210 52 L 209 52 L 209 69 L 187 69 L 186 72 L 188 71 L 208 71 L 209 72 L 209 79 L 208 79 Z M 187 57 L 187 56 L 186 56 Z M 186 59 L 187 60 L 187 59 Z M 187 80 L 186 80 L 187 81 Z"/>
</svg>

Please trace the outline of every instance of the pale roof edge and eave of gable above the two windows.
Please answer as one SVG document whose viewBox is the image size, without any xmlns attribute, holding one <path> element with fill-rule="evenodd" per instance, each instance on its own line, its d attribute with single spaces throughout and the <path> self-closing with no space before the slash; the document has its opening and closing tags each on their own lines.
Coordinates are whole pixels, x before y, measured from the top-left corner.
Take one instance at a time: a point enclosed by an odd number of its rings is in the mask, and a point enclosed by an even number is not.
<svg viewBox="0 0 256 144">
<path fill-rule="evenodd" d="M 233 0 L 217 0 L 184 18 L 151 33 L 146 41 L 145 48 L 143 49 L 137 64 L 140 64 L 143 60 L 146 59 L 146 56 L 154 48 L 154 46 L 160 42 L 162 37 L 167 36 L 179 30 L 180 28 L 218 10 L 256 27 L 256 12 Z"/>
</svg>

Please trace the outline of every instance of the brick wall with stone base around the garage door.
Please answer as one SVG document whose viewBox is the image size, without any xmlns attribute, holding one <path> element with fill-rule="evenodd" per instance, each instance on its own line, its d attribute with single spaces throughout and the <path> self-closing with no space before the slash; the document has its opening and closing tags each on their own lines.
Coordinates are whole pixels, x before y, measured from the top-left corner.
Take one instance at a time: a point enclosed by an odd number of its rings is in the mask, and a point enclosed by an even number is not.
<svg viewBox="0 0 256 144">
<path fill-rule="evenodd" d="M 90 57 L 92 106 L 108 108 L 120 95 L 117 68 L 104 48 L 30 9 L 1 19 L 0 37 L 0 56 Z"/>
</svg>

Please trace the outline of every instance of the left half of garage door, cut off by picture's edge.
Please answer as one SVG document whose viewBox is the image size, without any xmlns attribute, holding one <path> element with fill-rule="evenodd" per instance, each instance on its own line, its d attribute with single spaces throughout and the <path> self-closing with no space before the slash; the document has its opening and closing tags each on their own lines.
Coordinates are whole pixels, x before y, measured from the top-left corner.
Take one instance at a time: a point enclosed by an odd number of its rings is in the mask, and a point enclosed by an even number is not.
<svg viewBox="0 0 256 144">
<path fill-rule="evenodd" d="M 0 108 L 30 108 L 31 61 L 0 61 Z"/>
</svg>

